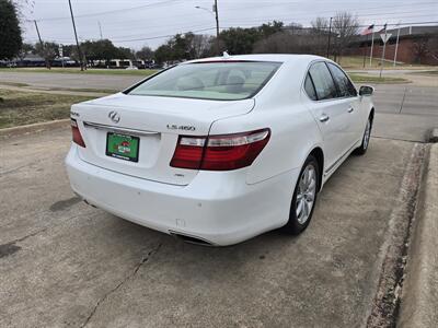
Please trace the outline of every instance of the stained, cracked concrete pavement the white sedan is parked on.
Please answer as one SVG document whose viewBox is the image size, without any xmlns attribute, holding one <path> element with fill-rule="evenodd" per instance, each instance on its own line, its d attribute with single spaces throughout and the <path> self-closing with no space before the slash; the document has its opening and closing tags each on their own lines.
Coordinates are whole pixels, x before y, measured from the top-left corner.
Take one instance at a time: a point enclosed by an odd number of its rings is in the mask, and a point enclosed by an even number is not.
<svg viewBox="0 0 438 328">
<path fill-rule="evenodd" d="M 416 143 L 373 138 L 325 185 L 302 235 L 224 248 L 81 202 L 64 168 L 69 144 L 68 127 L 0 141 L 1 327 L 364 325 Z"/>
</svg>

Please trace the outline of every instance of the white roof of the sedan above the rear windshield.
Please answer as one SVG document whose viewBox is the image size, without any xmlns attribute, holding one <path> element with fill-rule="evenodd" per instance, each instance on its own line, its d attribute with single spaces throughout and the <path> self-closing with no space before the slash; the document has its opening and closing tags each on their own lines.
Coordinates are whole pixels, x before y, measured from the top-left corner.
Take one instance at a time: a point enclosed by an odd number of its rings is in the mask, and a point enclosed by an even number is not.
<svg viewBox="0 0 438 328">
<path fill-rule="evenodd" d="M 300 62 L 300 63 L 309 63 L 316 59 L 324 59 L 321 56 L 314 55 L 291 55 L 291 54 L 261 54 L 261 55 L 227 55 L 220 57 L 209 57 L 203 59 L 195 59 L 191 61 L 185 61 L 184 63 L 194 63 L 194 62 L 214 62 L 214 61 L 278 61 L 278 62 Z"/>
</svg>

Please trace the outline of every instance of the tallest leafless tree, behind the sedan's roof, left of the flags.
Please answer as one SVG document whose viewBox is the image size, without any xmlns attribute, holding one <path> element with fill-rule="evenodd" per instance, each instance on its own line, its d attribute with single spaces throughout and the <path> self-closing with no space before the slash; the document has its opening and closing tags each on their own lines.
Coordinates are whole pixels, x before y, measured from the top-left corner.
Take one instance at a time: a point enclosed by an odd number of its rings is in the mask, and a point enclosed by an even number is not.
<svg viewBox="0 0 438 328">
<path fill-rule="evenodd" d="M 336 13 L 332 23 L 332 33 L 335 34 L 333 37 L 333 55 L 335 60 L 344 54 L 345 48 L 354 36 L 358 34 L 358 30 L 359 22 L 357 16 L 346 11 Z"/>
</svg>

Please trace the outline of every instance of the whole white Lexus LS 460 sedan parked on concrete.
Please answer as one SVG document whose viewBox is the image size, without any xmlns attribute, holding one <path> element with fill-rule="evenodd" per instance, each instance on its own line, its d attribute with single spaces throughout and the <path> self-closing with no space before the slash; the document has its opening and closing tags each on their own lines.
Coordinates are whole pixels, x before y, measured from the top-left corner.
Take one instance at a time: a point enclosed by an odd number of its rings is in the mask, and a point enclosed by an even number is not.
<svg viewBox="0 0 438 328">
<path fill-rule="evenodd" d="M 318 56 L 184 62 L 71 107 L 71 187 L 192 243 L 299 234 L 327 178 L 367 151 L 372 92 Z"/>
</svg>

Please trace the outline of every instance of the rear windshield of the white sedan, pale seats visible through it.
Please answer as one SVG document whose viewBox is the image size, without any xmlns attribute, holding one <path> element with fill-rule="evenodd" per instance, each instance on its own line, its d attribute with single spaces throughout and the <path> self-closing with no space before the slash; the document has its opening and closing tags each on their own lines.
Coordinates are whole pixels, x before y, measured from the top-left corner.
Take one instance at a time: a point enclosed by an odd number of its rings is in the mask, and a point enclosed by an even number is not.
<svg viewBox="0 0 438 328">
<path fill-rule="evenodd" d="M 280 66 L 270 61 L 180 65 L 128 91 L 132 95 L 238 101 L 255 95 Z"/>
</svg>

